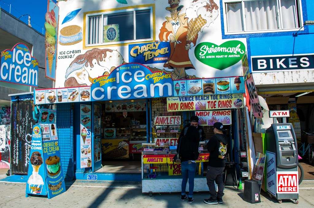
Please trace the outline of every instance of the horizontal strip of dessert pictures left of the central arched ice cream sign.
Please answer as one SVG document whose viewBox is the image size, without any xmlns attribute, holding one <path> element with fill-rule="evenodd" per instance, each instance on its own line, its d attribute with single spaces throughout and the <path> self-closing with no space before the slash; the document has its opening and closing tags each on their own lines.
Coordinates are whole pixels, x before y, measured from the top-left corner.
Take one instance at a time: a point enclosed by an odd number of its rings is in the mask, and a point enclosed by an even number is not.
<svg viewBox="0 0 314 208">
<path fill-rule="evenodd" d="M 35 104 L 54 104 L 90 101 L 90 87 L 38 89 Z"/>
</svg>

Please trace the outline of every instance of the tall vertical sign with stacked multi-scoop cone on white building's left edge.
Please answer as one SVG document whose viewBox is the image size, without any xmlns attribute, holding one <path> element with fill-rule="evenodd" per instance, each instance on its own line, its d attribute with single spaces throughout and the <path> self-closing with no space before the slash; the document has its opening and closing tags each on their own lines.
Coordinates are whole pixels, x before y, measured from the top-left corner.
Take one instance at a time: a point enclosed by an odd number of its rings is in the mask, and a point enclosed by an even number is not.
<svg viewBox="0 0 314 208">
<path fill-rule="evenodd" d="M 46 49 L 46 77 L 56 80 L 56 53 L 58 32 L 59 7 L 52 1 L 48 1 L 45 14 L 45 49 Z"/>
</svg>

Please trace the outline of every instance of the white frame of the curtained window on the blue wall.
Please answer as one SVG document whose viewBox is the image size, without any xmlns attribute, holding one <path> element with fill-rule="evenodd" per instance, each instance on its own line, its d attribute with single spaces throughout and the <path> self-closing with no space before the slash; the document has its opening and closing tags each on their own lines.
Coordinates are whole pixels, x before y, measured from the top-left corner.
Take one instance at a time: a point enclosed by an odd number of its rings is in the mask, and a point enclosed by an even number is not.
<svg viewBox="0 0 314 208">
<path fill-rule="evenodd" d="M 267 29 L 267 30 L 246 30 L 246 31 L 233 31 L 233 32 L 228 32 L 228 18 L 227 18 L 227 9 L 226 9 L 226 3 L 242 3 L 242 20 L 243 20 L 243 28 L 246 29 L 245 25 L 245 12 L 244 12 L 244 2 L 246 1 L 252 1 L 252 0 L 223 0 L 222 5 L 223 5 L 223 13 L 224 13 L 224 28 L 225 28 L 225 35 L 239 35 L 239 34 L 254 34 L 254 33 L 274 33 L 274 32 L 289 32 L 289 31 L 298 31 L 302 26 L 303 26 L 303 12 L 302 12 L 302 3 L 301 0 L 295 0 L 295 2 L 299 3 L 299 15 L 300 15 L 300 25 L 298 28 L 291 28 L 291 29 L 283 29 L 283 20 L 282 20 L 282 15 L 281 15 L 281 3 L 279 0 L 277 1 L 278 5 L 278 10 L 277 10 L 277 15 L 278 15 L 278 24 L 280 29 Z M 256 0 L 258 1 L 258 0 Z M 278 14 L 279 13 L 279 14 Z M 304 28 L 300 29 L 304 30 Z"/>
</svg>

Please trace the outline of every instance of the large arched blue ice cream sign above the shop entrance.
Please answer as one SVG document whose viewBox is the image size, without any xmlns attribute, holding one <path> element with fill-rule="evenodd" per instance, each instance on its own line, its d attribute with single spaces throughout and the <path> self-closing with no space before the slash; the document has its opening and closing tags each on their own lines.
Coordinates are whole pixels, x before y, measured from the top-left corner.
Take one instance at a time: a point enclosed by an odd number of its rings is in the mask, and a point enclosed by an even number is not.
<svg viewBox="0 0 314 208">
<path fill-rule="evenodd" d="M 170 97 L 171 74 L 152 72 L 142 64 L 122 64 L 109 76 L 94 78 L 91 95 L 92 101 Z"/>
</svg>

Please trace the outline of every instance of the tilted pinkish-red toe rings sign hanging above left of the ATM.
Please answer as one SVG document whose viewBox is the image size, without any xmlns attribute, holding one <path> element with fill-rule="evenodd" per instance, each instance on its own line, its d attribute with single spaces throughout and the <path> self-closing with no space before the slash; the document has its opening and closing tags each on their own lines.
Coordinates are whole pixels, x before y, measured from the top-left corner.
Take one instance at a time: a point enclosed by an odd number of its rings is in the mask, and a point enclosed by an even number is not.
<svg viewBox="0 0 314 208">
<path fill-rule="evenodd" d="M 251 75 L 246 81 L 246 88 L 249 92 L 250 103 L 252 105 L 253 114 L 255 118 L 263 118 L 261 105 L 259 104 L 256 87 L 254 84 L 253 76 Z"/>
</svg>

